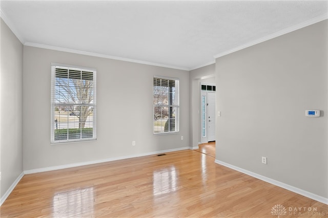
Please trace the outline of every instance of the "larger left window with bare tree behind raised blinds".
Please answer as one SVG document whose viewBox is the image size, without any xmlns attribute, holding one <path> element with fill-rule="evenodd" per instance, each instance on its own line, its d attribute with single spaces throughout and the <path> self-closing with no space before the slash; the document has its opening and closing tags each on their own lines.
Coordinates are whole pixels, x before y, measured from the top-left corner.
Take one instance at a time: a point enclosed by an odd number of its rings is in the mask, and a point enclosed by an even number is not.
<svg viewBox="0 0 328 218">
<path fill-rule="evenodd" d="M 96 139 L 96 70 L 51 66 L 51 142 Z"/>
</svg>

